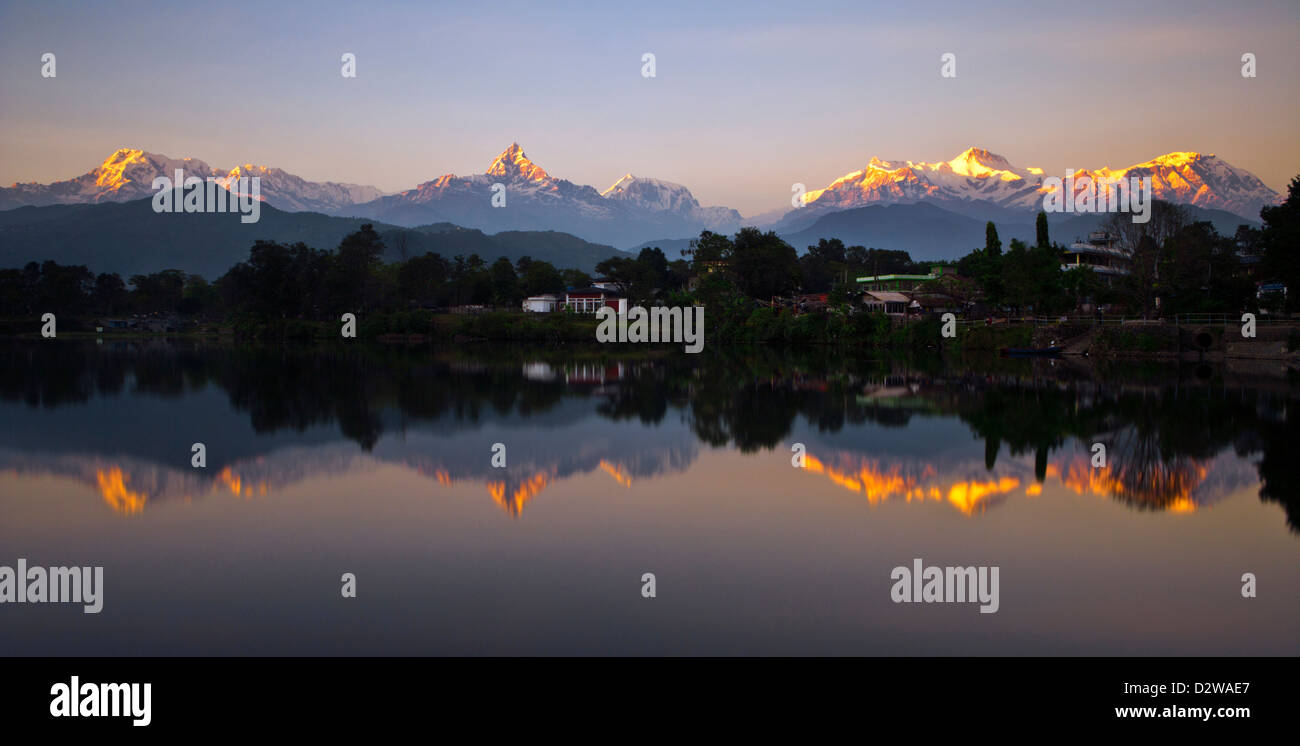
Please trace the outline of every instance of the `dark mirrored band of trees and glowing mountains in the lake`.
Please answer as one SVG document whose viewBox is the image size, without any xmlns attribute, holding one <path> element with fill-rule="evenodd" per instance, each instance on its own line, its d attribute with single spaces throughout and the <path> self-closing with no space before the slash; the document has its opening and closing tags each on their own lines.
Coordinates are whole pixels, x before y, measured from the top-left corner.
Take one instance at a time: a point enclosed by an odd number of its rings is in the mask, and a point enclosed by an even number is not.
<svg viewBox="0 0 1300 746">
<path fill-rule="evenodd" d="M 771 348 L 9 341 L 0 356 L 0 469 L 74 478 L 127 516 L 394 464 L 437 485 L 480 485 L 520 516 L 575 476 L 625 489 L 689 469 L 701 447 L 785 459 L 801 439 L 810 480 L 870 504 L 942 503 L 974 517 L 1060 485 L 1187 512 L 1257 485 L 1300 532 L 1288 457 L 1300 417 L 1284 376 Z M 497 441 L 508 442 L 504 469 L 489 463 Z M 208 469 L 190 468 L 191 442 L 207 443 Z M 1106 446 L 1105 468 L 1091 465 L 1093 443 Z"/>
</svg>

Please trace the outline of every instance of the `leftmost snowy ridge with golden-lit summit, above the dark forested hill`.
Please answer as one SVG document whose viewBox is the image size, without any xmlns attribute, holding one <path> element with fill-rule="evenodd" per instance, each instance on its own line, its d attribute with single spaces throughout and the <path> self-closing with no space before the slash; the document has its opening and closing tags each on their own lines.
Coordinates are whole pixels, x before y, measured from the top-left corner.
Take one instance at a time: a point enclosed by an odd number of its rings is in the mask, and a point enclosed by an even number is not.
<svg viewBox="0 0 1300 746">
<path fill-rule="evenodd" d="M 309 182 L 282 169 L 247 164 L 229 172 L 213 169 L 196 159 L 170 159 L 135 148 L 120 148 L 90 173 L 77 178 L 40 183 L 16 183 L 0 187 L 0 209 L 49 204 L 83 204 L 129 201 L 153 195 L 153 178 L 174 178 L 181 169 L 185 178 L 214 178 L 230 187 L 240 175 L 260 177 L 261 199 L 287 211 L 333 212 L 359 201 L 369 201 L 384 192 L 372 186 L 335 182 Z"/>
</svg>

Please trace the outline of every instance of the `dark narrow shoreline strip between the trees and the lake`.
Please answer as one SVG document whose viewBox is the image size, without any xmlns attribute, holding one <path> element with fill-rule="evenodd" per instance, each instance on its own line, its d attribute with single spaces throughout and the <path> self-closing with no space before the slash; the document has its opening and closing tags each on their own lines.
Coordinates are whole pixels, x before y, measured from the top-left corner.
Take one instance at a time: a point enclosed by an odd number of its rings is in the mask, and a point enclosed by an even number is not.
<svg viewBox="0 0 1300 746">
<path fill-rule="evenodd" d="M 57 339 L 127 341 L 185 339 L 234 343 L 324 343 L 344 341 L 332 321 L 240 318 L 224 322 L 177 321 L 185 330 L 105 329 L 73 317 Z M 611 350 L 671 348 L 672 343 L 602 343 L 593 316 L 489 312 L 451 315 L 430 312 L 378 313 L 363 317 L 356 341 L 378 344 L 524 343 Z M 956 338 L 944 338 L 937 318 L 900 322 L 884 316 L 792 316 L 777 330 L 737 325 L 723 318 L 706 328 L 705 343 L 789 348 L 854 350 L 880 354 L 991 352 L 1005 348 L 1062 348 L 1058 359 L 1223 363 L 1271 361 L 1300 368 L 1300 321 L 1262 324 L 1253 338 L 1239 335 L 1236 324 L 1148 322 L 1091 325 L 1087 322 L 1028 322 L 998 320 L 992 325 L 963 322 Z M 0 338 L 42 339 L 35 320 L 0 320 Z"/>
</svg>

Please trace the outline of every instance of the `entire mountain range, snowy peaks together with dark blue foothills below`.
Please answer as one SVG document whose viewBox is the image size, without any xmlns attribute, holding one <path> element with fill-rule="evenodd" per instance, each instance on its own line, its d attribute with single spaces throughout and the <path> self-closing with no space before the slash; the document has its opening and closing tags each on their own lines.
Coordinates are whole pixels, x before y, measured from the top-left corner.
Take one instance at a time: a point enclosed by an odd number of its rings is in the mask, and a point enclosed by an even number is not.
<svg viewBox="0 0 1300 746">
<path fill-rule="evenodd" d="M 211 224 L 214 231 L 200 235 L 181 227 L 192 225 L 185 220 L 173 224 L 166 220 L 174 216 L 152 214 L 144 209 L 147 201 L 144 208 L 107 209 L 146 200 L 153 194 L 153 178 L 170 178 L 177 169 L 186 177 L 213 178 L 226 188 L 242 175 L 259 177 L 266 211 L 261 220 L 270 222 L 242 231 L 226 226 L 220 216 L 190 216 L 204 226 Z M 1004 240 L 1032 238 L 1048 175 L 983 148 L 967 148 L 936 162 L 874 157 L 864 168 L 806 192 L 800 208 L 746 220 L 731 208 L 703 207 L 689 188 L 663 179 L 627 174 L 597 191 L 555 178 L 517 143 L 482 174 L 443 174 L 395 194 L 355 183 L 312 182 L 278 168 L 244 164 L 214 169 L 196 159 L 122 148 L 73 179 L 0 187 L 0 261 L 12 266 L 20 260 L 82 256 L 78 264 L 99 270 L 179 268 L 220 274 L 242 260 L 256 238 L 306 240 L 326 248 L 363 222 L 374 222 L 394 238 L 406 235 L 404 246 L 415 253 L 478 252 L 488 261 L 528 253 L 580 269 L 614 256 L 615 246 L 659 246 L 675 259 L 701 230 L 732 233 L 742 225 L 776 230 L 800 250 L 819 238 L 840 238 L 848 244 L 905 250 L 920 260 L 954 259 L 983 244 L 985 221 L 998 225 Z M 1280 199 L 1249 172 L 1196 152 L 1171 152 L 1121 169 L 1076 169 L 1076 175 L 1150 177 L 1157 199 L 1191 205 L 1197 220 L 1212 220 L 1227 234 L 1239 224 L 1256 224 L 1260 208 Z M 504 205 L 494 207 L 494 196 Z M 78 207 L 104 209 L 74 209 Z M 1065 242 L 1086 235 L 1102 218 L 1049 214 L 1053 237 Z M 525 237 L 536 242 L 536 251 L 517 246 Z M 190 256 L 198 252 L 194 242 L 204 246 L 203 256 Z M 186 246 L 183 255 L 177 246 Z M 597 256 L 602 251 L 607 253 Z"/>
</svg>

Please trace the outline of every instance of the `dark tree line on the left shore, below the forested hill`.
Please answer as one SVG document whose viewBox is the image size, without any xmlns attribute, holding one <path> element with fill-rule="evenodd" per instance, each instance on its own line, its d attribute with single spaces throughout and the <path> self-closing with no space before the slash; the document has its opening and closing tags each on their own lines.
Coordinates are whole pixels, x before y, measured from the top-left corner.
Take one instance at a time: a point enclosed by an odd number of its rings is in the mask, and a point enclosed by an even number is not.
<svg viewBox="0 0 1300 746">
<path fill-rule="evenodd" d="M 370 225 L 343 238 L 333 251 L 304 243 L 257 240 L 248 259 L 214 282 L 166 269 L 124 281 L 84 265 L 29 263 L 0 270 L 0 316 L 47 311 L 116 316 L 176 313 L 263 318 L 332 318 L 352 312 L 403 311 L 482 304 L 519 307 L 543 292 L 592 283 L 577 269 L 559 269 L 528 256 L 488 264 L 477 255 L 451 260 L 425 253 L 382 260 L 384 242 Z"/>
</svg>

